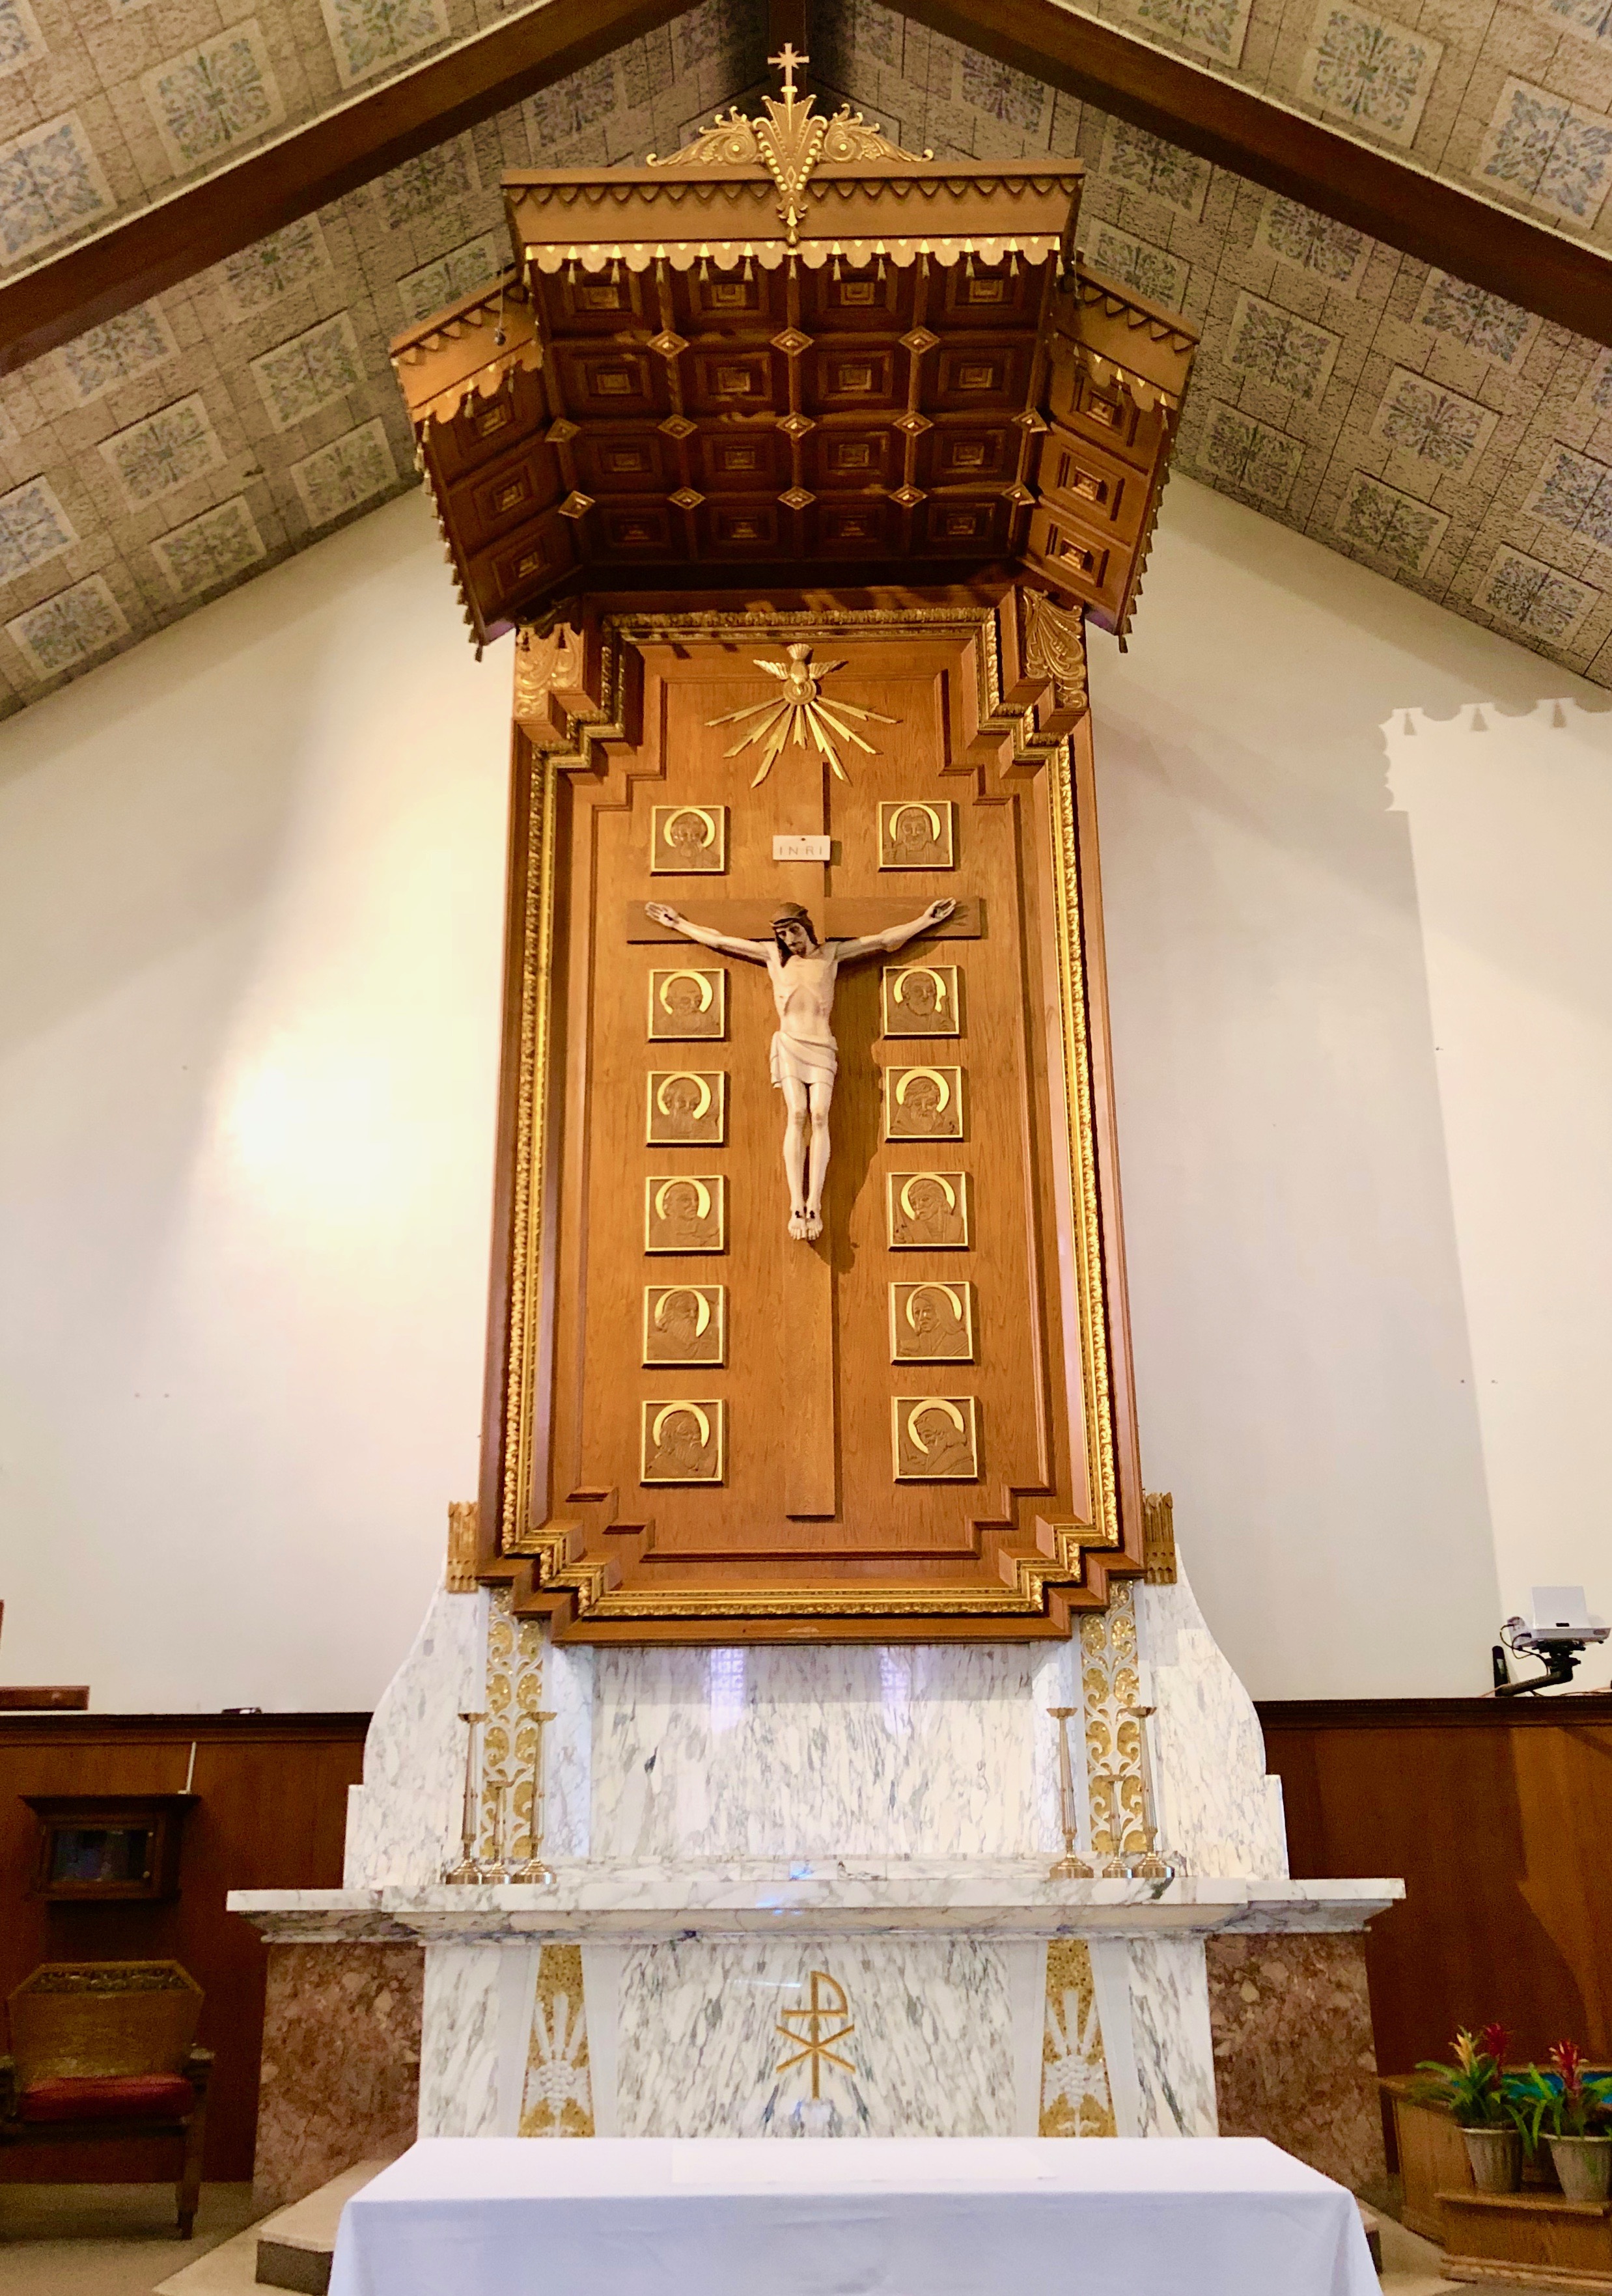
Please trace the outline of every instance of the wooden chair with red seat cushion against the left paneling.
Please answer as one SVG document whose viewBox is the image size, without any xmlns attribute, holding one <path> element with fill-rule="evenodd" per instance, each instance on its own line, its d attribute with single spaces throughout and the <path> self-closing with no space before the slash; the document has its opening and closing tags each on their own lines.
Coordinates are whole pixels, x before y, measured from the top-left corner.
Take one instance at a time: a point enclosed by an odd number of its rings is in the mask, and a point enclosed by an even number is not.
<svg viewBox="0 0 1612 2296">
<path fill-rule="evenodd" d="M 195 2046 L 197 1981 L 177 1961 L 46 1961 L 7 2009 L 0 2144 L 177 2140 L 175 2200 L 188 2241 L 214 2069 L 214 2053 Z"/>
</svg>

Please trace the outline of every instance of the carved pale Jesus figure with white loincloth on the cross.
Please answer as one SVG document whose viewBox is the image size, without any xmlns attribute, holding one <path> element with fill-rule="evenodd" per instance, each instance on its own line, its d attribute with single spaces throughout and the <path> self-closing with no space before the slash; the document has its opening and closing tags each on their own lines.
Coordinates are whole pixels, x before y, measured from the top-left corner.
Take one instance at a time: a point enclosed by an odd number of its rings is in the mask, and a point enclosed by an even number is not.
<svg viewBox="0 0 1612 2296">
<path fill-rule="evenodd" d="M 857 941 L 820 941 L 817 930 L 797 900 L 785 900 L 772 921 L 769 941 L 739 941 L 730 932 L 712 932 L 710 925 L 691 925 L 687 916 L 668 909 L 666 902 L 645 902 L 648 916 L 657 925 L 682 932 L 700 948 L 719 948 L 728 957 L 749 957 L 765 964 L 772 980 L 772 1001 L 778 1008 L 778 1026 L 772 1038 L 772 1081 L 783 1093 L 788 1111 L 783 1127 L 783 1171 L 790 1182 L 790 1235 L 813 1242 L 822 1235 L 822 1182 L 829 1171 L 829 1102 L 834 1100 L 834 1077 L 840 1065 L 840 1047 L 834 1042 L 834 983 L 840 964 L 875 953 L 893 955 L 919 932 L 939 925 L 958 907 L 955 900 L 932 900 L 921 916 L 905 925 L 886 925 L 884 932 L 868 932 Z M 806 1139 L 811 1118 L 811 1141 Z"/>
</svg>

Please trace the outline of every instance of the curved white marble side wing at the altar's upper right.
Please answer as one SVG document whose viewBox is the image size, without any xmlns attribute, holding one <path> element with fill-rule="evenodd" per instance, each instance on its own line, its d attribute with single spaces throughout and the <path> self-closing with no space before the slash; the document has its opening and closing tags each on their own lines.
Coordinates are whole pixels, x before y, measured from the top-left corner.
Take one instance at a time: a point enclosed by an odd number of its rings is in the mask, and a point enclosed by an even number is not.
<svg viewBox="0 0 1612 2296">
<path fill-rule="evenodd" d="M 1187 1573 L 1137 1587 L 1137 1639 L 1148 1669 L 1160 1848 L 1189 1874 L 1286 1874 L 1281 1779 L 1265 1775 L 1254 1699 L 1203 1623 Z"/>
</svg>

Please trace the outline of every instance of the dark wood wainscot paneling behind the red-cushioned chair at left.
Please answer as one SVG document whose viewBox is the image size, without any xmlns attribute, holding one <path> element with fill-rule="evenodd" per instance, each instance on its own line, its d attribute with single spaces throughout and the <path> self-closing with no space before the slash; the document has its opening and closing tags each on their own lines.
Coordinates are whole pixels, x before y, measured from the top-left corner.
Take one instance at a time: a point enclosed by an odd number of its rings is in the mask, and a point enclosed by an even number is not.
<svg viewBox="0 0 1612 2296">
<path fill-rule="evenodd" d="M 0 1717 L 0 1998 L 41 1961 L 170 1956 L 207 1993 L 197 2039 L 216 2053 L 209 2179 L 253 2174 L 264 2034 L 264 1942 L 225 1913 L 227 1890 L 328 1890 L 342 1878 L 347 1789 L 367 1715 Z M 179 1894 L 156 1903 L 48 1903 L 32 1894 L 39 1821 L 21 1795 L 197 1795 Z M 11 2183 L 149 2181 L 149 2144 L 16 2147 Z"/>
</svg>

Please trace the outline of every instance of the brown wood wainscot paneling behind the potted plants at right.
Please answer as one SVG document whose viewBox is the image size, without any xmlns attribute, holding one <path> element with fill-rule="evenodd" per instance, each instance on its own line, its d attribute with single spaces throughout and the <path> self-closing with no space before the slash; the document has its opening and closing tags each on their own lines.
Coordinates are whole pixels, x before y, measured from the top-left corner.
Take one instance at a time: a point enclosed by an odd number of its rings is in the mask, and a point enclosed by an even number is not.
<svg viewBox="0 0 1612 2296">
<path fill-rule="evenodd" d="M 1293 1874 L 1403 1874 L 1366 1931 L 1378 2064 L 1497 2018 L 1516 2062 L 1612 2060 L 1612 1694 L 1258 1708 Z"/>
</svg>

